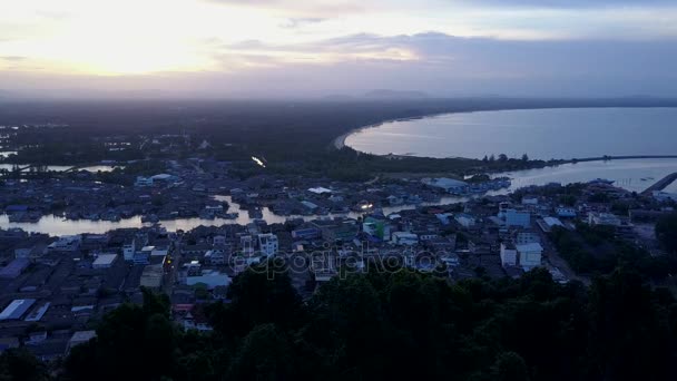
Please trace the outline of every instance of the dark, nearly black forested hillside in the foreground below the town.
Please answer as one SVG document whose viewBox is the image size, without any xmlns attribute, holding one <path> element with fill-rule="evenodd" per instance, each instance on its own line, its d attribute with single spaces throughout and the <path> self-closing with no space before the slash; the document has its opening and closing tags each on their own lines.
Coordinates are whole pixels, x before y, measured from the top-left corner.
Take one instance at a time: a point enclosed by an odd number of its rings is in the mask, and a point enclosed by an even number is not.
<svg viewBox="0 0 677 381">
<path fill-rule="evenodd" d="M 334 279 L 302 301 L 282 261 L 241 274 L 214 331 L 185 332 L 165 295 L 125 304 L 48 372 L 21 351 L 1 380 L 674 380 L 677 302 L 626 268 L 589 287 L 538 268 L 449 283 L 408 270 Z M 274 276 L 273 276 L 274 275 Z"/>
</svg>

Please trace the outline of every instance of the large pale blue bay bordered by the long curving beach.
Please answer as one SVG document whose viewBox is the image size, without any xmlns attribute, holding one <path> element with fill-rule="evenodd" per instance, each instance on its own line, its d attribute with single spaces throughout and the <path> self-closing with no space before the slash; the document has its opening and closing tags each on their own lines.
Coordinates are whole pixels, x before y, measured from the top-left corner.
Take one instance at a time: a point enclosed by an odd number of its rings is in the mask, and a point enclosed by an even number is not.
<svg viewBox="0 0 677 381">
<path fill-rule="evenodd" d="M 677 108 L 569 108 L 447 114 L 386 123 L 345 144 L 377 155 L 531 158 L 677 155 Z"/>
</svg>

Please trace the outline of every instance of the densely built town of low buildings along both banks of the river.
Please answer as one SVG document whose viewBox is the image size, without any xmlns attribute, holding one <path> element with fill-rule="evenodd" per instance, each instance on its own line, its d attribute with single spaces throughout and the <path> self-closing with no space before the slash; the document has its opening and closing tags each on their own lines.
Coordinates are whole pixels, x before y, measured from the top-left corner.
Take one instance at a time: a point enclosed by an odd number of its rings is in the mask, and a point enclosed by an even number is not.
<svg viewBox="0 0 677 381">
<path fill-rule="evenodd" d="M 95 336 L 107 312 L 140 304 L 143 290 L 167 294 L 184 329 L 209 331 L 204 306 L 227 303 L 233 280 L 271 258 L 285 261 L 303 297 L 370 267 L 450 282 L 544 267 L 559 283 L 589 284 L 620 252 L 671 286 L 675 268 L 655 225 L 675 212 L 677 196 L 660 190 L 637 194 L 602 179 L 508 192 L 509 179 L 482 176 L 241 178 L 227 162 L 197 158 L 160 169 L 3 180 L 0 349 L 57 361 Z M 32 228 L 43 218 L 69 234 Z M 110 225 L 91 231 L 101 222 Z"/>
</svg>

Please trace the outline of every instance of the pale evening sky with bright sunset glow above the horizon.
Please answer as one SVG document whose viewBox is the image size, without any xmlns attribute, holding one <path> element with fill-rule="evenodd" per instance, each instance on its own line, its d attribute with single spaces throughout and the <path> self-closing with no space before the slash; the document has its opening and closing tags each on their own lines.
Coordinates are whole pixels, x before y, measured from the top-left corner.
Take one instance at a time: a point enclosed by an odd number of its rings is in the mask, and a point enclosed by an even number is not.
<svg viewBox="0 0 677 381">
<path fill-rule="evenodd" d="M 675 0 L 0 0 L 0 96 L 677 96 Z"/>
</svg>

